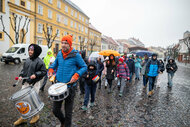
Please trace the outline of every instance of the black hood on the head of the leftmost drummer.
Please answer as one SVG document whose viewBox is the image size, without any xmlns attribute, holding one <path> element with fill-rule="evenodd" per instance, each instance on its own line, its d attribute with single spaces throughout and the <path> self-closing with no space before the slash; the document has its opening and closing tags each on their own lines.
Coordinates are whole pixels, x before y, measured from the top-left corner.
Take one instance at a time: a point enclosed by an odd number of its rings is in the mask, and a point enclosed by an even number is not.
<svg viewBox="0 0 190 127">
<path fill-rule="evenodd" d="M 29 45 L 28 47 L 28 51 L 30 49 L 30 47 L 33 46 L 34 47 L 34 53 L 33 55 L 30 57 L 31 60 L 34 60 L 36 59 L 42 52 L 42 48 L 39 46 L 39 45 L 36 45 L 36 44 L 31 44 Z"/>
</svg>

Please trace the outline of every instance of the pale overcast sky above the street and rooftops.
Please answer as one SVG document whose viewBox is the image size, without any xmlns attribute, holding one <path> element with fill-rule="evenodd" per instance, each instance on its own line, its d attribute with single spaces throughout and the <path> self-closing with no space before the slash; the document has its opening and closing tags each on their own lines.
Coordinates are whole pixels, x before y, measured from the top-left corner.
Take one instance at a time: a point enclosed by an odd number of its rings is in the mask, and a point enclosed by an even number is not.
<svg viewBox="0 0 190 127">
<path fill-rule="evenodd" d="M 177 43 L 190 31 L 190 0 L 71 0 L 102 34 L 145 46 Z"/>
</svg>

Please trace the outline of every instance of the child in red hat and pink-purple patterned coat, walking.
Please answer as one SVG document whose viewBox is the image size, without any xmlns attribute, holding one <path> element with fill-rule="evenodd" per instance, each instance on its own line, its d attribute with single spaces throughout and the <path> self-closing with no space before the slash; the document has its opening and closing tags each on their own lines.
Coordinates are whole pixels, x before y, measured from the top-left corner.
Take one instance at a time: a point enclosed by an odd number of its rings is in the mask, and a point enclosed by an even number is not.
<svg viewBox="0 0 190 127">
<path fill-rule="evenodd" d="M 117 77 L 118 77 L 118 84 L 120 86 L 120 93 L 119 96 L 123 95 L 123 90 L 126 85 L 126 80 L 129 80 L 129 68 L 125 62 L 123 62 L 123 58 L 119 58 L 119 64 L 117 65 Z"/>
</svg>

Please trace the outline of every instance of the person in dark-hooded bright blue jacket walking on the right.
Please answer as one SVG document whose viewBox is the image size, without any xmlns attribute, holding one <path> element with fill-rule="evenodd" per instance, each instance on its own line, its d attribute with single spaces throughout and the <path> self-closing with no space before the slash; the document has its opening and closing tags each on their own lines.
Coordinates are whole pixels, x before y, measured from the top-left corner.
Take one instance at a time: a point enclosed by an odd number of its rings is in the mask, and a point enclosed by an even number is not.
<svg viewBox="0 0 190 127">
<path fill-rule="evenodd" d="M 150 97 L 153 94 L 154 83 L 156 80 L 156 76 L 160 72 L 159 61 L 157 60 L 157 54 L 152 54 L 151 60 L 148 61 L 146 65 L 146 73 L 148 75 L 149 81 L 149 92 L 148 96 Z"/>
</svg>

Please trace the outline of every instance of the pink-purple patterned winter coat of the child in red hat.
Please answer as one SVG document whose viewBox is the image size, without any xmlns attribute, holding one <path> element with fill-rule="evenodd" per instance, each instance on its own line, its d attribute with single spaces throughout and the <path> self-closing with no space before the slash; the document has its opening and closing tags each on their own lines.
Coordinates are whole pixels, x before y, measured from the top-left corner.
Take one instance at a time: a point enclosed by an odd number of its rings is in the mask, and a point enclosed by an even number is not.
<svg viewBox="0 0 190 127">
<path fill-rule="evenodd" d="M 127 79 L 129 77 L 129 68 L 126 63 L 121 63 L 117 65 L 117 74 L 121 78 Z"/>
</svg>

